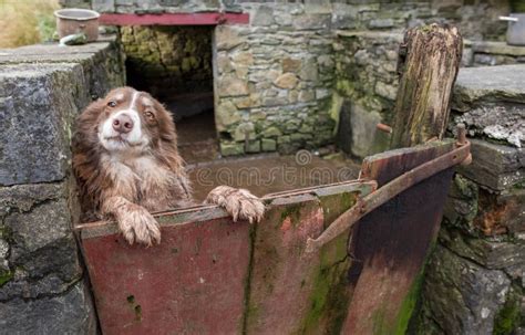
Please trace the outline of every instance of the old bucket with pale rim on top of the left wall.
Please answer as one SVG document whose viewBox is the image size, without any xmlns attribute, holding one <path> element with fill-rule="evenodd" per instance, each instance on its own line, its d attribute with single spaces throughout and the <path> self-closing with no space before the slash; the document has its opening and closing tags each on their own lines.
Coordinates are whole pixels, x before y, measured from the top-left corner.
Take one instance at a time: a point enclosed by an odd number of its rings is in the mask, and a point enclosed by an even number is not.
<svg viewBox="0 0 525 335">
<path fill-rule="evenodd" d="M 99 17 L 100 14 L 89 9 L 60 9 L 54 12 L 56 17 L 56 31 L 62 39 L 66 35 L 83 32 L 87 36 L 87 42 L 99 39 Z"/>
</svg>

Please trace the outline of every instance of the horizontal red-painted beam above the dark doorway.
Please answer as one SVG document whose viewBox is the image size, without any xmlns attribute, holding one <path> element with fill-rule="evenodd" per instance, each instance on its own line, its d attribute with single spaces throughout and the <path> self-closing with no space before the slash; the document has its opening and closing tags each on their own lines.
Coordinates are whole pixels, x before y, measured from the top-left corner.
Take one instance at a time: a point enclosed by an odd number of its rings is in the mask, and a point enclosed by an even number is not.
<svg viewBox="0 0 525 335">
<path fill-rule="evenodd" d="M 106 25 L 216 25 L 248 24 L 248 13 L 163 13 L 163 14 L 101 14 Z"/>
</svg>

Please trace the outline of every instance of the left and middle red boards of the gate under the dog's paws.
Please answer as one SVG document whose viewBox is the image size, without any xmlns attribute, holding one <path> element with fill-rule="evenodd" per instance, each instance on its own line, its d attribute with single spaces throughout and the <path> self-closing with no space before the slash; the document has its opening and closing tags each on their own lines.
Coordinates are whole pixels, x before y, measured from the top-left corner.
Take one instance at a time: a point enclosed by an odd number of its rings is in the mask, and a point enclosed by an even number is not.
<svg viewBox="0 0 525 335">
<path fill-rule="evenodd" d="M 279 193 L 257 226 L 234 223 L 217 207 L 158 213 L 163 240 L 152 248 L 128 245 L 111 222 L 79 227 L 103 333 L 332 329 L 349 299 L 348 235 L 315 254 L 303 252 L 305 243 L 373 187 L 341 182 Z"/>
</svg>

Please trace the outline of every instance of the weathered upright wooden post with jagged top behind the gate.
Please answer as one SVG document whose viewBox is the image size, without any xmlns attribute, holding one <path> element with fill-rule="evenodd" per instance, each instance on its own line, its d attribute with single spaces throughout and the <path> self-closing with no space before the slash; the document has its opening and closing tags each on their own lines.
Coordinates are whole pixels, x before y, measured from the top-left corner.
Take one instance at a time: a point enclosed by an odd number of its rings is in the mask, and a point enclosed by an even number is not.
<svg viewBox="0 0 525 335">
<path fill-rule="evenodd" d="M 406 31 L 398 63 L 391 148 L 443 138 L 462 49 L 455 27 L 433 23 Z"/>
</svg>

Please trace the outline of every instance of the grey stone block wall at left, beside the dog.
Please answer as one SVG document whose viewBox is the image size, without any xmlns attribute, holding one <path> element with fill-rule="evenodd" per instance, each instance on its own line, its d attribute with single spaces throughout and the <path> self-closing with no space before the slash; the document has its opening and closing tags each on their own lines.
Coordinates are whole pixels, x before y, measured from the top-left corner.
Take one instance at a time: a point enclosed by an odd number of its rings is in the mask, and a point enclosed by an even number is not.
<svg viewBox="0 0 525 335">
<path fill-rule="evenodd" d="M 96 333 L 72 232 L 70 139 L 80 111 L 123 74 L 113 42 L 0 50 L 0 329 Z"/>
</svg>

